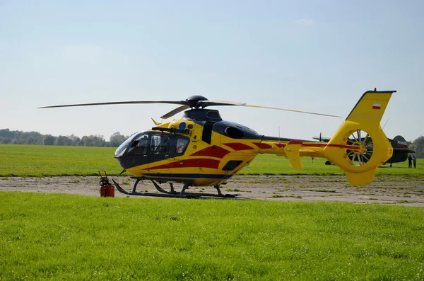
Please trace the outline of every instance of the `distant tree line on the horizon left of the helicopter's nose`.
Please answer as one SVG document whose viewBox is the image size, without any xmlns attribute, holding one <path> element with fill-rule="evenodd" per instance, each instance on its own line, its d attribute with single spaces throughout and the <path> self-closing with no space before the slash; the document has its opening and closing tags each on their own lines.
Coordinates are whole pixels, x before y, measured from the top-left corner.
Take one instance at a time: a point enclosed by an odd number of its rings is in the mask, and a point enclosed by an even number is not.
<svg viewBox="0 0 424 281">
<path fill-rule="evenodd" d="M 38 145 L 67 145 L 78 147 L 119 147 L 129 136 L 124 136 L 115 132 L 110 136 L 109 141 L 100 134 L 76 137 L 69 136 L 55 137 L 52 134 L 40 134 L 40 132 L 11 131 L 9 129 L 0 130 L 0 144 L 38 144 Z"/>
</svg>

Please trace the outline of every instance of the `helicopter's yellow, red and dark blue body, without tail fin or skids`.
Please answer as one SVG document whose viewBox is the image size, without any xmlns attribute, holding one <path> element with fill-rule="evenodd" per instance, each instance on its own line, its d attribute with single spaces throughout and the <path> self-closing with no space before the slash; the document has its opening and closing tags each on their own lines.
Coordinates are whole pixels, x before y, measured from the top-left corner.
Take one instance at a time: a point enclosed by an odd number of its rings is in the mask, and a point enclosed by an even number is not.
<svg viewBox="0 0 424 281">
<path fill-rule="evenodd" d="M 118 147 L 115 158 L 139 178 L 195 186 L 219 185 L 258 154 L 287 156 L 298 145 L 300 156 L 322 155 L 324 142 L 267 137 L 221 119 L 218 110 L 192 109 L 182 119 L 137 132 Z"/>
</svg>

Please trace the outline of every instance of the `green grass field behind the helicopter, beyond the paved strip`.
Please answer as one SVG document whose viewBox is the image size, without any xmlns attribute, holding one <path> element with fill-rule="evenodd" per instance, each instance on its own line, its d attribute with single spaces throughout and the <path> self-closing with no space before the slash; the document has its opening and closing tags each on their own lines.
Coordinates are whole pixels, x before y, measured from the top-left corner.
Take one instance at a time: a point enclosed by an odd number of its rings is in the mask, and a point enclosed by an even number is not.
<svg viewBox="0 0 424 281">
<path fill-rule="evenodd" d="M 0 176 L 95 176 L 98 170 L 117 175 L 122 168 L 114 159 L 112 147 L 56 147 L 40 145 L 0 144 Z M 303 170 L 292 168 L 285 157 L 269 154 L 257 156 L 241 171 L 249 175 L 341 175 L 334 165 L 326 166 L 326 159 L 302 158 Z M 418 168 L 408 168 L 408 162 L 377 169 L 377 174 L 424 176 L 424 159 Z"/>
</svg>

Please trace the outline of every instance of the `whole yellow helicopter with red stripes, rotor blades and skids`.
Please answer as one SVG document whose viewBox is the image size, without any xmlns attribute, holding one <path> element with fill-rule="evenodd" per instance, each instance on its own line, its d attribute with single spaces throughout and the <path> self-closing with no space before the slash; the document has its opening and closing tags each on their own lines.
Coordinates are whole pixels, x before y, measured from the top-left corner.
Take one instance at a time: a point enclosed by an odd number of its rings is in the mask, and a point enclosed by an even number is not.
<svg viewBox="0 0 424 281">
<path fill-rule="evenodd" d="M 184 111 L 181 119 L 163 124 L 152 119 L 155 127 L 131 135 L 117 148 L 115 159 L 124 171 L 134 175 L 131 178 L 136 182 L 131 192 L 124 190 L 115 180 L 114 185 L 119 192 L 127 195 L 235 197 L 237 194 L 221 193 L 220 185 L 247 166 L 258 154 L 286 156 L 293 168 L 299 170 L 302 169 L 300 157 L 324 157 L 339 166 L 352 185 L 371 183 L 375 169 L 393 154 L 393 147 L 382 131 L 380 120 L 394 92 L 396 91 L 366 91 L 328 142 L 264 136 L 243 125 L 223 120 L 218 110 L 208 107 L 234 105 L 288 109 L 230 101 L 208 101 L 204 96 L 191 96 L 185 101 L 120 101 L 42 108 L 134 103 L 180 105 L 161 118 L 167 119 Z M 326 115 L 300 110 L 288 111 Z M 138 192 L 136 188 L 141 180 L 151 180 L 160 193 Z M 163 189 L 160 186 L 162 183 L 169 183 L 170 190 Z M 182 183 L 182 190 L 175 190 L 173 183 Z M 188 193 L 187 188 L 191 186 L 213 186 L 218 193 Z"/>
</svg>

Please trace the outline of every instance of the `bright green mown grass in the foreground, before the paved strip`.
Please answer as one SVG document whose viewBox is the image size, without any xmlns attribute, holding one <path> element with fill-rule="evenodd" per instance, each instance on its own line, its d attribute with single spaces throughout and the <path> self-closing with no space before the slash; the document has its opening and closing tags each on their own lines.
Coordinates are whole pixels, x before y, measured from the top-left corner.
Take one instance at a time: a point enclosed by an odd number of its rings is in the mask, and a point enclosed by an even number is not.
<svg viewBox="0 0 424 281">
<path fill-rule="evenodd" d="M 0 280 L 423 280 L 424 209 L 0 193 Z"/>
</svg>

